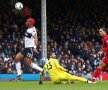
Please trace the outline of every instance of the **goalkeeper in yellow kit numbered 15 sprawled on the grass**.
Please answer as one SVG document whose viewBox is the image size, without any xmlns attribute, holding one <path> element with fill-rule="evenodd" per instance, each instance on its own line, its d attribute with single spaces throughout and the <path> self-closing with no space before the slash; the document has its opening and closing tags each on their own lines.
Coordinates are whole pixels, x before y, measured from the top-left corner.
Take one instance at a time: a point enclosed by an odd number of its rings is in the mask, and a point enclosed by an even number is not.
<svg viewBox="0 0 108 90">
<path fill-rule="evenodd" d="M 50 78 L 54 82 L 54 84 L 62 84 L 64 81 L 66 81 L 67 83 L 73 81 L 92 83 L 85 78 L 67 73 L 67 70 L 60 66 L 58 60 L 56 59 L 55 52 L 51 53 L 49 61 L 44 65 L 44 70 L 49 73 Z"/>
</svg>

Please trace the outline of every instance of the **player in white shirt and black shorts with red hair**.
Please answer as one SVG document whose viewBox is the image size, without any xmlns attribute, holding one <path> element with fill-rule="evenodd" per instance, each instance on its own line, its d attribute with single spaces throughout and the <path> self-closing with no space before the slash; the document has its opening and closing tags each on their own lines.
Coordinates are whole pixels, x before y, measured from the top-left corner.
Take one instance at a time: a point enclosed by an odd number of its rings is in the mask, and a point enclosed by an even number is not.
<svg viewBox="0 0 108 90">
<path fill-rule="evenodd" d="M 32 67 L 33 69 L 39 70 L 40 72 L 43 71 L 41 67 L 36 65 L 35 63 L 32 62 L 32 56 L 33 56 L 33 50 L 36 49 L 37 44 L 38 44 L 38 37 L 37 37 L 37 32 L 36 28 L 34 27 L 35 20 L 33 18 L 29 18 L 26 21 L 26 26 L 28 29 L 25 32 L 25 38 L 24 38 L 24 50 L 20 51 L 15 58 L 15 64 L 16 64 L 16 71 L 17 71 L 17 78 L 16 80 L 21 79 L 21 63 L 20 60 L 25 58 L 25 63 L 26 65 Z"/>
</svg>

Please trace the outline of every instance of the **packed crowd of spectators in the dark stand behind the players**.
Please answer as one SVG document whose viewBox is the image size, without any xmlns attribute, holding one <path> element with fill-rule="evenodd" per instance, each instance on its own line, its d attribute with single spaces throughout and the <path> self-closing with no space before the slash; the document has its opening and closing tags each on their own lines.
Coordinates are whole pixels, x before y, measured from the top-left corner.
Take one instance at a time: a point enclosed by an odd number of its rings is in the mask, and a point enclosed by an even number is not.
<svg viewBox="0 0 108 90">
<path fill-rule="evenodd" d="M 36 3 L 37 6 L 32 5 L 30 8 L 32 12 L 40 10 L 40 2 Z M 2 4 L 0 7 L 0 73 L 16 73 L 14 58 L 23 49 L 22 38 L 26 29 L 26 17 L 8 5 Z M 47 0 L 48 57 L 50 52 L 55 51 L 60 64 L 69 71 L 75 74 L 93 72 L 103 57 L 97 53 L 102 47 L 98 29 L 108 27 L 106 10 L 107 6 L 101 0 Z M 31 16 L 37 21 L 39 38 L 33 60 L 39 64 L 42 47 L 40 16 L 32 12 Z M 27 67 L 24 60 L 21 63 L 23 73 L 38 72 Z"/>
</svg>

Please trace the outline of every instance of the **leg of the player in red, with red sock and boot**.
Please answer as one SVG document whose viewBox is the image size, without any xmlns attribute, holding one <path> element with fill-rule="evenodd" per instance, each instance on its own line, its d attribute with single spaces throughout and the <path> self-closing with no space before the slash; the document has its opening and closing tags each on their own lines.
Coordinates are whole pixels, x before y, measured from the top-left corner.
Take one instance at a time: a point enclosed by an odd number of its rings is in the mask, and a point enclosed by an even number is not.
<svg viewBox="0 0 108 90">
<path fill-rule="evenodd" d="M 96 83 L 96 78 L 101 74 L 101 71 L 105 69 L 105 67 L 108 65 L 108 57 L 105 57 L 102 61 L 100 61 L 99 66 L 96 68 L 92 82 Z"/>
</svg>

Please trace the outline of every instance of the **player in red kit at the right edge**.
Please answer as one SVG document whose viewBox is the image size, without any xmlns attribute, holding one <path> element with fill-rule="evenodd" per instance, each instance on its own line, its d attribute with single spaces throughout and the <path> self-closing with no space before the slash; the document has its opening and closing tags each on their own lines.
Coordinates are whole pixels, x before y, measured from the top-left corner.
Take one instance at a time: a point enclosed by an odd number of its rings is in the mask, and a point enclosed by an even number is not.
<svg viewBox="0 0 108 90">
<path fill-rule="evenodd" d="M 106 31 L 104 27 L 99 29 L 99 34 L 102 36 L 103 48 L 98 53 L 104 54 L 104 58 L 100 61 L 99 66 L 92 75 L 92 82 L 94 83 L 96 83 L 96 78 L 100 75 L 101 71 L 107 69 L 108 66 L 108 35 Z"/>
</svg>

